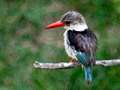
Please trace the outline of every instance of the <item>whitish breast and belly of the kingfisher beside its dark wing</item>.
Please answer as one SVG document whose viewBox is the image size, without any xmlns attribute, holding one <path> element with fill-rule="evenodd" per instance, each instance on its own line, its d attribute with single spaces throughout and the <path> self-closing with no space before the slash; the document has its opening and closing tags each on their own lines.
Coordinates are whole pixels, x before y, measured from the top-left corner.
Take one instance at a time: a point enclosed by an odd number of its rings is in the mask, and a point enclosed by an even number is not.
<svg viewBox="0 0 120 90">
<path fill-rule="evenodd" d="M 70 42 L 69 42 L 67 34 L 68 34 L 68 30 L 66 30 L 65 33 L 64 33 L 64 45 L 65 45 L 66 53 L 68 54 L 68 56 L 77 60 L 75 49 L 74 49 L 74 47 L 70 46 Z"/>
</svg>

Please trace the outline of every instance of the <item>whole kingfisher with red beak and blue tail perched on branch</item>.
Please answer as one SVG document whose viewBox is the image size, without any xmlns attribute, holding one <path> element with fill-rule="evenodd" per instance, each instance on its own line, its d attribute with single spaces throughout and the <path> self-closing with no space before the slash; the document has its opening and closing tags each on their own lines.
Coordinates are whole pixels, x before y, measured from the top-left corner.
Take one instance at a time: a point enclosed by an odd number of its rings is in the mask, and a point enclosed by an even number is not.
<svg viewBox="0 0 120 90">
<path fill-rule="evenodd" d="M 68 56 L 81 62 L 85 71 L 85 80 L 92 83 L 92 65 L 95 65 L 97 37 L 88 28 L 84 17 L 75 11 L 65 13 L 62 18 L 45 29 L 64 27 L 64 45 Z"/>
</svg>

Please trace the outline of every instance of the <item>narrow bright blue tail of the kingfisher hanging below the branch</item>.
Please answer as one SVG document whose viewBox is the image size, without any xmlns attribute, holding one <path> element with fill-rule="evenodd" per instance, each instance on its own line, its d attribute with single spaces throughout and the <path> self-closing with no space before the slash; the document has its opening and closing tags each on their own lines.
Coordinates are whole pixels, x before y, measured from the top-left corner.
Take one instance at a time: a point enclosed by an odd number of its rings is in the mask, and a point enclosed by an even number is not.
<svg viewBox="0 0 120 90">
<path fill-rule="evenodd" d="M 85 79 L 86 79 L 87 83 L 88 84 L 92 83 L 92 68 L 91 68 L 91 66 L 85 66 L 84 70 L 85 70 Z"/>
</svg>

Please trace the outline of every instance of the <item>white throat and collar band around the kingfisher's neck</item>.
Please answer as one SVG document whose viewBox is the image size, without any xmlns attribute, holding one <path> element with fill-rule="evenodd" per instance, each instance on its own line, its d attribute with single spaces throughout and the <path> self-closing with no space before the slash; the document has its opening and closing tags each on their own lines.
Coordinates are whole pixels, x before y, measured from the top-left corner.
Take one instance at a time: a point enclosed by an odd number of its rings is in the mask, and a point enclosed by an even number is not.
<svg viewBox="0 0 120 90">
<path fill-rule="evenodd" d="M 64 28 L 67 30 L 84 31 L 88 27 L 86 24 L 76 24 L 76 25 L 71 24 L 70 26 L 65 26 Z"/>
</svg>

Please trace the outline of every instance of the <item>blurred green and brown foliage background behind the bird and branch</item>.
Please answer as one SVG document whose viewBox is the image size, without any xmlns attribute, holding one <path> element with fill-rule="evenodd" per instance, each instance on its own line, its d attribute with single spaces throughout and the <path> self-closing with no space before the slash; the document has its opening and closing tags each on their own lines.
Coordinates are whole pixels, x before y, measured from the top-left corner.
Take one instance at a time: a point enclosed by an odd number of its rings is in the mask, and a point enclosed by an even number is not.
<svg viewBox="0 0 120 90">
<path fill-rule="evenodd" d="M 0 0 L 0 90 L 119 90 L 120 66 L 35 69 L 33 63 L 69 62 L 64 29 L 44 30 L 67 11 L 80 12 L 98 37 L 97 60 L 120 58 L 119 0 Z"/>
</svg>

